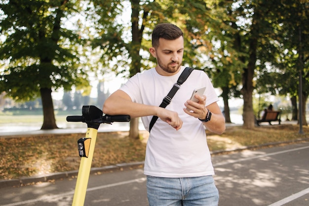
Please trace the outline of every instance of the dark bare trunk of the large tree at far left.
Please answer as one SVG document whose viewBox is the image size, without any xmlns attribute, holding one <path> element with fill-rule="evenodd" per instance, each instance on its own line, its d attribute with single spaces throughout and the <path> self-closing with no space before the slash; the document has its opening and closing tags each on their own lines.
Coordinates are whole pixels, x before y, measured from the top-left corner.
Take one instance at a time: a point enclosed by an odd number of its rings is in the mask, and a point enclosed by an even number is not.
<svg viewBox="0 0 309 206">
<path fill-rule="evenodd" d="M 54 105 L 51 98 L 51 88 L 40 88 L 43 105 L 43 125 L 41 129 L 56 129 Z"/>
</svg>

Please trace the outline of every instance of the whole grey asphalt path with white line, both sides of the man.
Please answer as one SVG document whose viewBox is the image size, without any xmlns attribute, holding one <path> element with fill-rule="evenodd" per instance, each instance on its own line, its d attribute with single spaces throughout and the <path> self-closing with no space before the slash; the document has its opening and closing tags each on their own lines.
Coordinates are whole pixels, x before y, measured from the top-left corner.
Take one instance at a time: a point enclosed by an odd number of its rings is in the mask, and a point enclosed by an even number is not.
<svg viewBox="0 0 309 206">
<path fill-rule="evenodd" d="M 309 206 L 309 142 L 212 157 L 219 206 Z M 0 206 L 70 206 L 76 178 L 0 190 Z M 142 169 L 91 175 L 84 206 L 148 206 Z"/>
</svg>

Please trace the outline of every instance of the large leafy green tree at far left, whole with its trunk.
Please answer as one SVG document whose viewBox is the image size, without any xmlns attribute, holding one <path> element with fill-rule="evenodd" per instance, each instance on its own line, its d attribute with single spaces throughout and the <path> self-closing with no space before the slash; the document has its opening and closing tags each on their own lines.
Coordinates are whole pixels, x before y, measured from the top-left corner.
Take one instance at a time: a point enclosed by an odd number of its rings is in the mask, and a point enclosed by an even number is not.
<svg viewBox="0 0 309 206">
<path fill-rule="evenodd" d="M 0 0 L 0 5 L 0 91 L 15 101 L 40 96 L 41 129 L 57 128 L 51 92 L 88 84 L 78 67 L 82 39 L 62 24 L 78 5 L 68 0 Z"/>
</svg>

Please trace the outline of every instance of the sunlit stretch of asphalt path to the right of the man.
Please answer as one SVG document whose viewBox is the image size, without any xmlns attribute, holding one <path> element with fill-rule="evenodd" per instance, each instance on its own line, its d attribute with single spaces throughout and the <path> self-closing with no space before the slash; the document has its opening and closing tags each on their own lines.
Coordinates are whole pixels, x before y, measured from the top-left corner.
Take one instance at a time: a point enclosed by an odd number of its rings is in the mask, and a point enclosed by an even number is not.
<svg viewBox="0 0 309 206">
<path fill-rule="evenodd" d="M 214 157 L 219 206 L 309 206 L 308 157 L 308 142 Z"/>
</svg>

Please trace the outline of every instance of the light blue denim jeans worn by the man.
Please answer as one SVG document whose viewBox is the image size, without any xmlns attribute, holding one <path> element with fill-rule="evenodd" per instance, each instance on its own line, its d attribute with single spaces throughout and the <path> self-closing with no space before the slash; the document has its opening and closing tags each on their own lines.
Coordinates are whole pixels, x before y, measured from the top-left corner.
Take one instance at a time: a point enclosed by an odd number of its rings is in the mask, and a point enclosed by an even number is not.
<svg viewBox="0 0 309 206">
<path fill-rule="evenodd" d="M 149 206 L 218 206 L 212 176 L 166 178 L 147 176 Z"/>
</svg>

